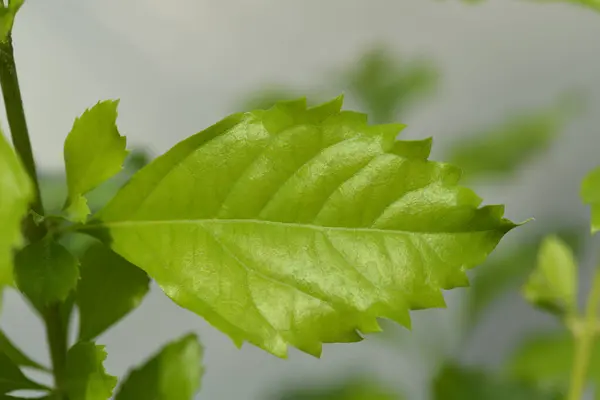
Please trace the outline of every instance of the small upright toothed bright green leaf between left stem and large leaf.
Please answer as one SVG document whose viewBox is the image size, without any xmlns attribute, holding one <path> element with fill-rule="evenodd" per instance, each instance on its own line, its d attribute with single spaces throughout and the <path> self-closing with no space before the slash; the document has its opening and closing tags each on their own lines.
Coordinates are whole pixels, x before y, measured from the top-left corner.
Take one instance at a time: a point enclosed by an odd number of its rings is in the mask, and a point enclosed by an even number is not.
<svg viewBox="0 0 600 400">
<path fill-rule="evenodd" d="M 118 100 L 102 101 L 86 110 L 65 140 L 66 211 L 75 221 L 85 221 L 90 213 L 83 195 L 116 175 L 127 156 L 126 139 L 116 125 L 118 105 Z"/>
</svg>

